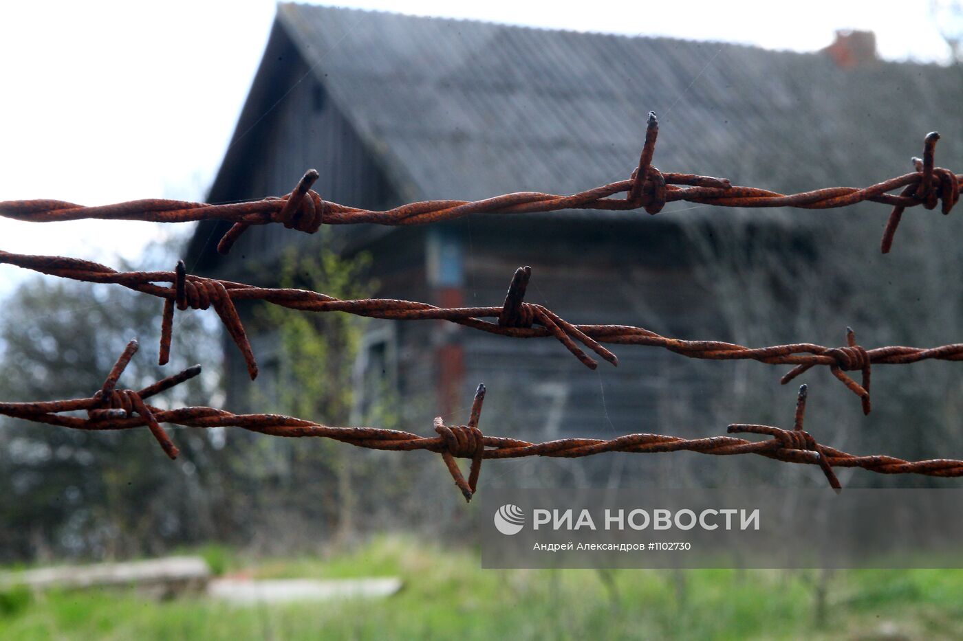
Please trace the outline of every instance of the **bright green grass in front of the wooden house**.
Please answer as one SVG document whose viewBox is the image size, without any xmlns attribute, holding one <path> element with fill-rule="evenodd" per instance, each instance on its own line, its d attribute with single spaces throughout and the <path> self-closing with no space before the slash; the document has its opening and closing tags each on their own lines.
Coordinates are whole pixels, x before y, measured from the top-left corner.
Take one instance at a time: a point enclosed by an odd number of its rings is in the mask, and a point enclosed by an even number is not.
<svg viewBox="0 0 963 641">
<path fill-rule="evenodd" d="M 235 607 L 130 590 L 0 593 L 2 639 L 963 638 L 963 572 L 494 571 L 391 538 L 327 559 L 213 565 L 253 577 L 403 577 L 380 601 Z"/>
</svg>

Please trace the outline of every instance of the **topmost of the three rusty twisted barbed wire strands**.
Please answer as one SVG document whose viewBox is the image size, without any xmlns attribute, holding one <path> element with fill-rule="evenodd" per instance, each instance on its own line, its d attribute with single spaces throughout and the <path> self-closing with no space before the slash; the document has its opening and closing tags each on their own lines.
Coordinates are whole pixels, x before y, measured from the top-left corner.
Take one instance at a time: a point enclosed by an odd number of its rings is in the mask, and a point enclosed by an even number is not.
<svg viewBox="0 0 963 641">
<path fill-rule="evenodd" d="M 943 214 L 949 214 L 959 200 L 959 183 L 963 180 L 963 174 L 953 173 L 944 167 L 935 167 L 936 141 L 940 139 L 936 132 L 925 137 L 923 159 L 913 159 L 915 169 L 913 172 L 863 189 L 831 187 L 794 194 L 733 186 L 725 178 L 663 172 L 652 165 L 658 134 L 659 121 L 654 112 L 649 112 L 638 167 L 632 175 L 627 180 L 570 195 L 515 192 L 474 202 L 426 200 L 379 212 L 324 200 L 318 192 L 311 189 L 319 177 L 318 171 L 309 169 L 292 192 L 280 197 L 269 196 L 250 202 L 215 205 L 151 198 L 85 207 L 63 200 L 10 200 L 0 202 L 0 216 L 34 222 L 79 218 L 155 222 L 220 219 L 234 223 L 218 244 L 218 251 L 226 254 L 248 227 L 272 222 L 279 222 L 289 229 L 313 234 L 321 228 L 322 224 L 413 225 L 450 220 L 470 214 L 523 214 L 556 212 L 563 209 L 610 211 L 644 209 L 649 214 L 658 214 L 666 203 L 678 200 L 719 207 L 801 209 L 833 209 L 869 200 L 893 206 L 880 244 L 882 252 L 887 253 L 893 246 L 893 238 L 906 208 L 923 205 L 926 209 L 935 209 L 937 204 L 942 202 Z M 900 188 L 902 192 L 898 195 L 888 193 Z M 626 196 L 612 197 L 620 192 L 625 192 Z"/>
</svg>

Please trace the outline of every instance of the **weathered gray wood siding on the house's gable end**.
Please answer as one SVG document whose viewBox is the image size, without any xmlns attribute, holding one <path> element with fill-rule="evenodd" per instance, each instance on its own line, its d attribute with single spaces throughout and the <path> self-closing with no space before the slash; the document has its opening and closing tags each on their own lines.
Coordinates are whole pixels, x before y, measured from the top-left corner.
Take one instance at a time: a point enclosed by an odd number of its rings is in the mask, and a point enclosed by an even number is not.
<svg viewBox="0 0 963 641">
<path fill-rule="evenodd" d="M 256 154 L 239 167 L 230 184 L 216 193 L 219 201 L 281 195 L 290 192 L 310 167 L 320 177 L 314 190 L 325 199 L 379 208 L 395 200 L 383 172 L 364 144 L 325 92 L 308 73 L 308 65 L 283 35 L 272 38 L 266 59 L 281 61 L 284 73 L 272 78 L 275 95 L 273 108 L 255 115 L 249 124 L 242 120 L 240 131 Z M 278 67 L 273 67 L 278 68 Z M 290 88 L 290 91 L 287 91 Z M 329 227 L 314 235 L 300 234 L 281 225 L 255 226 L 234 245 L 229 256 L 221 258 L 209 271 L 225 279 L 276 286 L 273 274 L 281 253 L 295 246 L 303 252 L 319 252 L 328 247 L 344 247 L 358 230 Z M 210 241 L 209 243 L 214 243 Z M 390 279 L 388 279 L 390 280 Z M 251 304 L 239 304 L 239 312 L 250 321 Z M 276 384 L 277 345 L 273 334 L 253 332 L 251 346 L 262 373 L 258 376 L 259 394 L 273 397 Z M 225 388 L 227 403 L 247 407 L 251 383 L 243 359 L 230 339 L 224 339 Z"/>
</svg>

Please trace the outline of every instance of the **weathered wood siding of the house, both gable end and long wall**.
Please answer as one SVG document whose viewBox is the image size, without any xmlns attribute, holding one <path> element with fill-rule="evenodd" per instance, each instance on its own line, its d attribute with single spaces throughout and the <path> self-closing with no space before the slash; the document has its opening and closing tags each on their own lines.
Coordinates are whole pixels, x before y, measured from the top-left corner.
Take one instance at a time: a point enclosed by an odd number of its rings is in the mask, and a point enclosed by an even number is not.
<svg viewBox="0 0 963 641">
<path fill-rule="evenodd" d="M 283 67 L 287 76 L 274 84 L 294 88 L 252 125 L 247 136 L 254 138 L 257 156 L 238 175 L 235 191 L 221 197 L 282 194 L 306 168 L 315 167 L 321 174 L 315 189 L 325 198 L 368 208 L 400 204 L 377 156 L 306 73 L 307 64 L 293 49 L 274 53 L 292 57 Z M 463 273 L 453 287 L 460 289 L 464 304 L 501 305 L 514 269 L 530 265 L 534 275 L 527 299 L 546 304 L 568 321 L 639 324 L 693 337 L 712 333 L 707 293 L 691 282 L 674 225 L 647 217 L 638 223 L 606 222 L 597 215 L 563 218 L 543 224 L 532 218 L 475 217 L 442 225 L 461 252 L 457 259 Z M 439 288 L 428 266 L 432 232 L 427 227 L 386 231 L 325 227 L 307 236 L 280 225 L 254 227 L 221 259 L 216 273 L 271 285 L 285 247 L 302 252 L 351 247 L 370 252 L 378 295 L 438 303 Z M 240 309 L 250 321 L 249 306 Z M 474 388 L 484 382 L 489 389 L 488 429 L 522 438 L 659 431 L 660 408 L 667 399 L 686 395 L 698 404 L 713 394 L 708 376 L 702 374 L 705 364 L 658 349 L 614 346 L 619 367 L 602 362 L 592 372 L 549 339 L 513 340 L 441 321 L 371 321 L 367 331 L 366 346 L 380 351 L 377 358 L 363 354 L 362 364 L 377 360 L 374 366 L 381 372 L 374 375 L 394 394 L 369 394 L 362 405 L 397 402 L 403 426 L 418 431 L 428 430 L 442 407 L 442 346 L 459 346 L 464 361 L 464 375 L 456 381 L 459 402 L 446 419 L 464 422 Z M 271 398 L 278 358 L 275 336 L 255 329 L 250 339 L 262 371 L 257 394 Z M 227 405 L 245 408 L 254 397 L 244 363 L 229 340 L 224 349 Z M 363 378 L 359 375 L 359 381 Z"/>
</svg>

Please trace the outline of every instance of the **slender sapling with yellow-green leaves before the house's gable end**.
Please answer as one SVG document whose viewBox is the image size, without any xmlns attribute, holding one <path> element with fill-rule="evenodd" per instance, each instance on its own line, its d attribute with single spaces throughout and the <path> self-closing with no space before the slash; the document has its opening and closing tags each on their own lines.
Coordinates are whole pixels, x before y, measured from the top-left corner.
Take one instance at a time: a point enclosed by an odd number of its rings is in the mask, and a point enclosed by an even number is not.
<svg viewBox="0 0 963 641">
<path fill-rule="evenodd" d="M 281 288 L 305 289 L 341 299 L 373 295 L 366 254 L 299 253 L 290 247 L 271 274 Z M 332 425 L 353 423 L 354 368 L 367 319 L 340 312 L 313 314 L 275 305 L 253 308 L 252 335 L 274 348 L 273 361 L 250 390 L 257 411 L 274 411 Z M 237 452 L 234 472 L 254 482 L 248 509 L 272 514 L 292 544 L 318 544 L 352 528 L 357 458 L 343 444 L 320 439 L 254 439 Z M 309 491 L 306 489 L 309 488 Z M 294 540 L 298 539 L 298 543 Z M 275 539 L 276 542 L 276 539 Z"/>
</svg>

